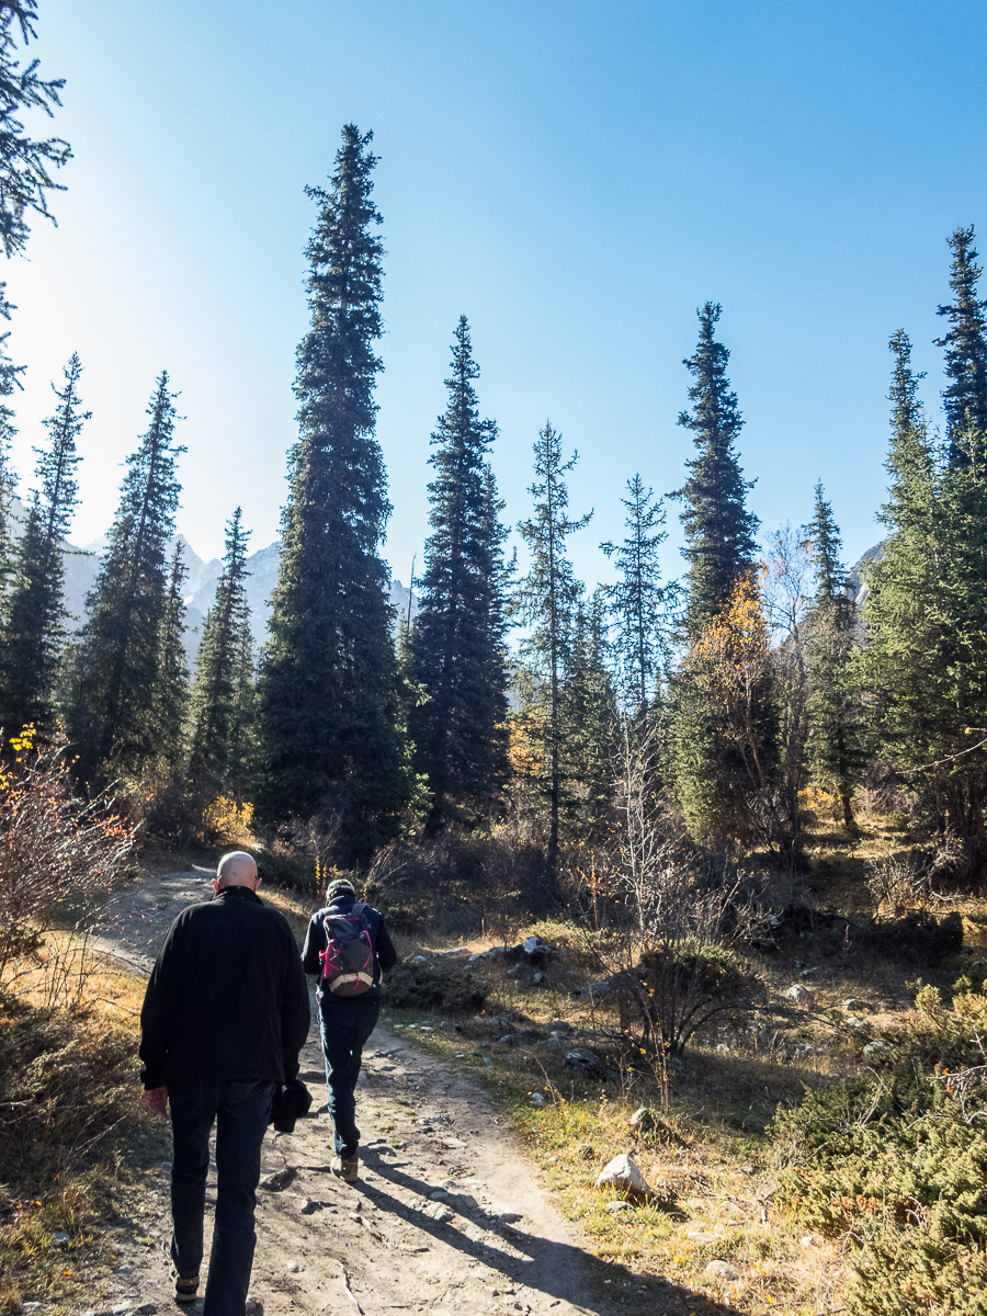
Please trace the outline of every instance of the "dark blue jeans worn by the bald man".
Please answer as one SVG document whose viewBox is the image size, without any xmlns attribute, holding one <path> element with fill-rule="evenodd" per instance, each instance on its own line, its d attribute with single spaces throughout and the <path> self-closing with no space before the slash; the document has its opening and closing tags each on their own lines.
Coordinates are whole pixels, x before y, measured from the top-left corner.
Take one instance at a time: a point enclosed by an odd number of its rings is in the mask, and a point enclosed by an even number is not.
<svg viewBox="0 0 987 1316">
<path fill-rule="evenodd" d="M 209 1133 L 216 1123 L 216 1221 L 203 1316 L 243 1316 L 254 1265 L 261 1144 L 274 1083 L 168 1083 L 171 1259 L 183 1278 L 203 1263 Z"/>
</svg>

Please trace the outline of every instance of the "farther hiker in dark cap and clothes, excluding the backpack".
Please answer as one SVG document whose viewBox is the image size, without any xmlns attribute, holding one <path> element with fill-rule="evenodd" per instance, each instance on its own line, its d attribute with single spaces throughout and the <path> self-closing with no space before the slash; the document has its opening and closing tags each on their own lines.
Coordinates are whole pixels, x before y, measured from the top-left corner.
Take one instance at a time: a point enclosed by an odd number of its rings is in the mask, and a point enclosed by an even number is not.
<svg viewBox="0 0 987 1316">
<path fill-rule="evenodd" d="M 329 1115 L 333 1120 L 336 1157 L 332 1173 L 345 1183 L 359 1174 L 359 1129 L 357 1128 L 357 1079 L 363 1061 L 363 1048 L 376 1028 L 380 1015 L 380 974 L 397 963 L 397 951 L 384 926 L 384 917 L 371 905 L 362 913 L 372 948 L 372 984 L 358 996 L 334 995 L 324 976 L 324 954 L 329 937 L 326 916 L 351 915 L 357 891 L 351 882 L 340 878 L 329 883 L 328 905 L 317 909 L 305 933 L 301 965 L 307 974 L 318 975 L 318 1024 L 325 1055 L 325 1082 L 329 1088 Z"/>
</svg>

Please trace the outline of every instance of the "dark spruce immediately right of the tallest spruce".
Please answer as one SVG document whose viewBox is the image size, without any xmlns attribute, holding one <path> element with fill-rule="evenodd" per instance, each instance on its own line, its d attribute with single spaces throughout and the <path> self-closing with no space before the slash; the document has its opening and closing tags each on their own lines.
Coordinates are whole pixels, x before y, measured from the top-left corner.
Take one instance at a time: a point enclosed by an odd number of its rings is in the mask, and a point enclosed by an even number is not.
<svg viewBox="0 0 987 1316">
<path fill-rule="evenodd" d="M 446 380 L 449 405 L 432 436 L 432 533 L 425 544 L 409 676 L 421 697 L 409 709 L 415 767 L 432 792 L 425 834 L 467 803 L 487 803 L 507 771 L 507 619 L 503 545 L 507 529 L 486 453 L 496 425 L 480 420 L 466 316 Z"/>
</svg>

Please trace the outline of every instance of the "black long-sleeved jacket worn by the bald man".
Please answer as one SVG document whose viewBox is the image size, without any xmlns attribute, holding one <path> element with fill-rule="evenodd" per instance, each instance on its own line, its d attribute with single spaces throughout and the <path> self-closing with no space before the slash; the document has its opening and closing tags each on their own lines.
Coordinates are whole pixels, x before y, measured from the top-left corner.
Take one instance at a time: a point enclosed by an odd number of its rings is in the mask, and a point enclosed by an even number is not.
<svg viewBox="0 0 987 1316">
<path fill-rule="evenodd" d="M 299 1071 L 308 987 L 284 915 L 224 887 L 175 919 L 141 1011 L 141 1079 L 284 1083 Z"/>
</svg>

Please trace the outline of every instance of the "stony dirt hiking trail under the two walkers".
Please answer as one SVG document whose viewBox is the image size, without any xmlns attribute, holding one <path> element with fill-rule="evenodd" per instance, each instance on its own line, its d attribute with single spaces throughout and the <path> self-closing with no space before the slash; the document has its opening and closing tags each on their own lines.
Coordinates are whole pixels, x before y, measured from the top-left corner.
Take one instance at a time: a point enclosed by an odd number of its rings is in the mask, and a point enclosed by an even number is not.
<svg viewBox="0 0 987 1316">
<path fill-rule="evenodd" d="M 207 869 L 143 876 L 107 907 L 97 949 L 149 973 L 171 921 L 212 894 Z M 250 1284 L 265 1316 L 462 1312 L 728 1313 L 732 1308 L 604 1266 L 554 1208 L 487 1094 L 386 1028 L 365 1050 L 357 1090 L 361 1175 L 329 1173 L 318 1030 L 301 1055 L 311 1115 L 291 1134 L 268 1129 Z M 149 1177 L 145 1224 L 114 1236 L 109 1299 L 91 1316 L 174 1312 L 170 1163 Z M 215 1166 L 207 1188 L 207 1258 Z M 204 1291 L 200 1290 L 200 1294 Z M 201 1311 L 201 1298 L 191 1307 Z"/>
</svg>

